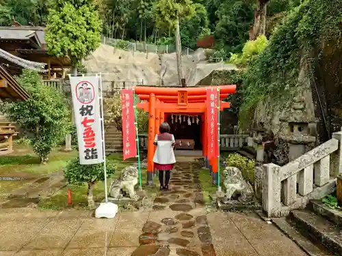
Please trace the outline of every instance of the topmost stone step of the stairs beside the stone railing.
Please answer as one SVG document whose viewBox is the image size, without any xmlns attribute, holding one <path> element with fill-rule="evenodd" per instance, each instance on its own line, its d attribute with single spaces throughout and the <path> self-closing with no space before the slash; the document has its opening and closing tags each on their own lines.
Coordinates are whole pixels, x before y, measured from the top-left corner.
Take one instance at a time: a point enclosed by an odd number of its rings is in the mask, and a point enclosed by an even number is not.
<svg viewBox="0 0 342 256">
<path fill-rule="evenodd" d="M 328 218 L 332 223 L 342 227 L 342 213 L 340 210 L 334 210 L 324 205 L 320 200 L 311 200 L 309 206 L 315 214 Z"/>
</svg>

